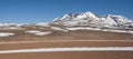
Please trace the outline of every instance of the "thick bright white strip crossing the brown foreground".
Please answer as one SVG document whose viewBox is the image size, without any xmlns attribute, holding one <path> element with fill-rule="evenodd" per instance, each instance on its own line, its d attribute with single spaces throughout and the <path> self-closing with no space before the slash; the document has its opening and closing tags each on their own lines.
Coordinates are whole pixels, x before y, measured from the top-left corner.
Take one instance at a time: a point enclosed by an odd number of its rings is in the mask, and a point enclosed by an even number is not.
<svg viewBox="0 0 133 59">
<path fill-rule="evenodd" d="M 71 47 L 1 50 L 0 53 L 54 52 L 54 51 L 133 51 L 133 47 Z"/>
</svg>

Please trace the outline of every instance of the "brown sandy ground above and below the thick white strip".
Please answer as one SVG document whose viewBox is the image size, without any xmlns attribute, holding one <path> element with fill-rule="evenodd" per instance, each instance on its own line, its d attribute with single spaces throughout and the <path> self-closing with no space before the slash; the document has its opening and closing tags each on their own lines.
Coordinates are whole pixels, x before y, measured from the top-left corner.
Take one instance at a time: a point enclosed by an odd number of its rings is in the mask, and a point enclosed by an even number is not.
<svg viewBox="0 0 133 59">
<path fill-rule="evenodd" d="M 4 43 L 0 50 L 32 49 L 47 47 L 133 47 L 133 42 L 29 42 Z M 133 51 L 60 51 L 0 53 L 0 59 L 133 59 Z"/>
</svg>

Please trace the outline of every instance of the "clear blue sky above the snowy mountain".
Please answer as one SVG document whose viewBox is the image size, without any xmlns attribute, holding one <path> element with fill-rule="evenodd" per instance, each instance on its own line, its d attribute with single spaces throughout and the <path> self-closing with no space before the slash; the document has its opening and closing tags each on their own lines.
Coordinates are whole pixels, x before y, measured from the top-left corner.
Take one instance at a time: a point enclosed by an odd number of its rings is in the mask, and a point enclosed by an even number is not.
<svg viewBox="0 0 133 59">
<path fill-rule="evenodd" d="M 0 22 L 52 21 L 70 12 L 121 14 L 133 19 L 133 0 L 0 0 Z"/>
</svg>

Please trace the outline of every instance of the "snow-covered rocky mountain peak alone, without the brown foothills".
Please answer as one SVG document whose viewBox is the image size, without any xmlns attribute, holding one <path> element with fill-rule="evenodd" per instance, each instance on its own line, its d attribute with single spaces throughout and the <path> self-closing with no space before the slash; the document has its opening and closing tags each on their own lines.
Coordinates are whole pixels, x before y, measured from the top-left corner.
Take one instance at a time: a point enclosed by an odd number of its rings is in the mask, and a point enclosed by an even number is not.
<svg viewBox="0 0 133 59">
<path fill-rule="evenodd" d="M 68 13 L 55 18 L 53 22 L 64 26 L 89 26 L 98 28 L 133 28 L 133 21 L 122 16 L 98 16 L 92 12 Z"/>
</svg>

